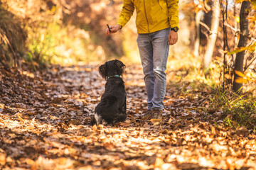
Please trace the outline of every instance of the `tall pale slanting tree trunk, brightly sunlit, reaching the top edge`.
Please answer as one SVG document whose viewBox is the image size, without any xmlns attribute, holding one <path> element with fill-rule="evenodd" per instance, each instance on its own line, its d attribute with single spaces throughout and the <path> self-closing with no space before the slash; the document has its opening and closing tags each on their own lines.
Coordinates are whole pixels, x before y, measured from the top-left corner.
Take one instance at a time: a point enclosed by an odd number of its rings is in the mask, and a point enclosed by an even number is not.
<svg viewBox="0 0 256 170">
<path fill-rule="evenodd" d="M 203 69 L 205 70 L 205 72 L 208 71 L 211 58 L 213 56 L 213 50 L 215 47 L 215 42 L 218 34 L 219 17 L 220 17 L 220 1 L 215 0 L 213 1 L 213 18 L 210 26 L 211 33 L 207 41 L 206 53 L 203 59 Z"/>
</svg>

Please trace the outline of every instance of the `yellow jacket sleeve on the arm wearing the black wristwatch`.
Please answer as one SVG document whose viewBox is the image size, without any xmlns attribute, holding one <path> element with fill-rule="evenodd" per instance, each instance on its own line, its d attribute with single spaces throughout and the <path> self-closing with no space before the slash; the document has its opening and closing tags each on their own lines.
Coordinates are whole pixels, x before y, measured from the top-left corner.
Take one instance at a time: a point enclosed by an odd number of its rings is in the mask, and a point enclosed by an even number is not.
<svg viewBox="0 0 256 170">
<path fill-rule="evenodd" d="M 178 0 L 166 0 L 171 28 L 178 27 Z"/>
</svg>

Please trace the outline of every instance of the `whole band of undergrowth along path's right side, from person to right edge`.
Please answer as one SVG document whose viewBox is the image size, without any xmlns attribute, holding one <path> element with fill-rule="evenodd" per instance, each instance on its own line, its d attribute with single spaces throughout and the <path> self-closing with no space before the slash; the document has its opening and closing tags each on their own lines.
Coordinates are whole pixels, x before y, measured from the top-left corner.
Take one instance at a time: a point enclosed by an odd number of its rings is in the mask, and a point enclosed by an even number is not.
<svg viewBox="0 0 256 170">
<path fill-rule="evenodd" d="M 193 56 L 186 55 L 182 62 L 171 58 L 167 69 L 167 78 L 170 77 L 168 88 L 176 87 L 184 96 L 196 92 L 201 98 L 208 100 L 204 108 L 196 109 L 209 115 L 218 115 L 218 119 L 215 120 L 222 120 L 230 127 L 243 126 L 256 132 L 255 84 L 253 82 L 243 84 L 244 94 L 240 96 L 230 90 L 223 92 L 220 88 L 222 68 L 218 63 L 212 63 L 211 68 L 210 74 L 205 77 L 201 62 Z"/>
</svg>

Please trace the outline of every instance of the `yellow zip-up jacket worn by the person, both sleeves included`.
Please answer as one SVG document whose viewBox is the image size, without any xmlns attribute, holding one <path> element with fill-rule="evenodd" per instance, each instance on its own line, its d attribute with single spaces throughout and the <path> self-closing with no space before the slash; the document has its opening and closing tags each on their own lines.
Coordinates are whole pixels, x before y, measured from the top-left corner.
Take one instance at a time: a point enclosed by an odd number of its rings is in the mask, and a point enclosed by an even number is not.
<svg viewBox="0 0 256 170">
<path fill-rule="evenodd" d="M 134 9 L 138 33 L 178 27 L 178 0 L 124 0 L 117 24 L 124 27 Z"/>
</svg>

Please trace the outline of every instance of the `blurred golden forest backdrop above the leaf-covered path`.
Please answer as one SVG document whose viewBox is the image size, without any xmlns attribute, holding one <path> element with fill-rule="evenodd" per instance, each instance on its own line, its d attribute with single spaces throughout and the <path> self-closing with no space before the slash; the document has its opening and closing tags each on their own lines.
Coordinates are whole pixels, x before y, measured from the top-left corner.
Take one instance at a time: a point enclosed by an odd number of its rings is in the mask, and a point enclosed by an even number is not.
<svg viewBox="0 0 256 170">
<path fill-rule="evenodd" d="M 136 13 L 120 33 L 105 36 L 106 24 L 117 22 L 122 3 L 122 0 L 1 0 L 1 63 L 18 66 L 33 62 L 41 66 L 121 57 L 139 62 Z M 243 69 L 237 70 L 247 71 L 247 78 L 241 74 L 240 82 L 253 78 L 256 7 L 255 1 L 247 1 L 249 5 L 242 18 L 246 18 L 248 26 L 243 34 L 241 4 L 240 0 L 181 0 L 179 40 L 171 47 L 169 58 L 193 60 L 206 75 L 214 68 L 223 77 L 220 80 L 223 89 L 231 89 L 235 55 L 245 52 Z M 240 35 L 245 37 L 244 45 L 238 45 Z"/>
</svg>

